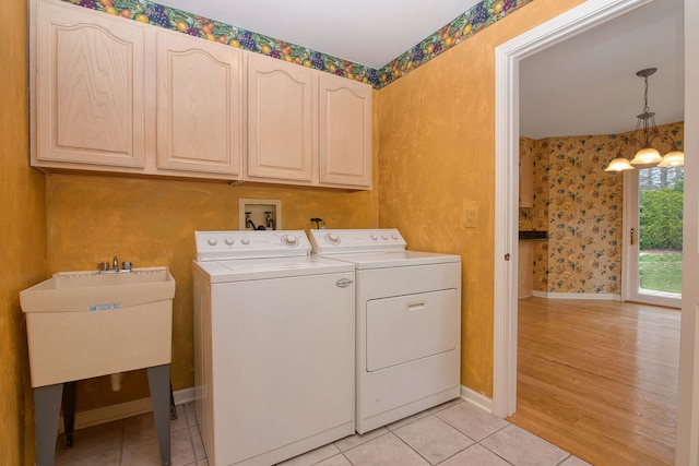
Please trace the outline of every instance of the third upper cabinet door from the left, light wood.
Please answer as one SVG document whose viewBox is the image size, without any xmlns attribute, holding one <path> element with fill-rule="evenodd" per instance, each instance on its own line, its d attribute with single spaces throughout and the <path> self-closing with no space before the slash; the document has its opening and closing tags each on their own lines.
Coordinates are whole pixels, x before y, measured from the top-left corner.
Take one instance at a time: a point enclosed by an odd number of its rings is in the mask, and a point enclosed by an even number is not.
<svg viewBox="0 0 699 466">
<path fill-rule="evenodd" d="M 313 180 L 313 70 L 248 55 L 248 178 Z"/>
</svg>

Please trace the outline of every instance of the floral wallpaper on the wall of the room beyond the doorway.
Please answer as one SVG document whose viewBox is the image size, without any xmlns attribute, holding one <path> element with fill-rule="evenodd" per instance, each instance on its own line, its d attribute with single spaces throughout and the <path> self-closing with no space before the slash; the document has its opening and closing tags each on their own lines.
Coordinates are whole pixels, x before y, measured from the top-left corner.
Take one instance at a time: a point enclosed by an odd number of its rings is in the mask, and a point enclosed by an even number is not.
<svg viewBox="0 0 699 466">
<path fill-rule="evenodd" d="M 682 148 L 684 123 L 660 130 Z M 548 231 L 534 247 L 534 290 L 620 295 L 624 178 L 604 169 L 630 134 L 520 140 L 535 174 L 534 207 L 520 208 L 520 229 Z"/>
</svg>

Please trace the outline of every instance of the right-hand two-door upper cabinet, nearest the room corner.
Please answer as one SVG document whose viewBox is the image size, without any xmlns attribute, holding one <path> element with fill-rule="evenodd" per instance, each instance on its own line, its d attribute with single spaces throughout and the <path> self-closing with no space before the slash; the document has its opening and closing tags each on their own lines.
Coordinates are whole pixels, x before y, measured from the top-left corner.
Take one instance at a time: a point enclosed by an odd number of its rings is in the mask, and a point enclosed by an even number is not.
<svg viewBox="0 0 699 466">
<path fill-rule="evenodd" d="M 248 53 L 246 179 L 371 188 L 371 86 Z"/>
</svg>

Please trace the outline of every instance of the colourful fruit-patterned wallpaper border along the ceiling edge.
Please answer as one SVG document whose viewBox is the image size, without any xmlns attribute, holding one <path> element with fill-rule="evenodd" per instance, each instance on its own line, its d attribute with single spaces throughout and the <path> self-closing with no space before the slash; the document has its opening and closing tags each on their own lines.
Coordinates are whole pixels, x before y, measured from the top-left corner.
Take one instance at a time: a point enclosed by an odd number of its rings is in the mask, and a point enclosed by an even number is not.
<svg viewBox="0 0 699 466">
<path fill-rule="evenodd" d="M 380 70 L 149 0 L 62 1 L 227 44 L 380 88 L 533 0 L 483 0 Z"/>
</svg>

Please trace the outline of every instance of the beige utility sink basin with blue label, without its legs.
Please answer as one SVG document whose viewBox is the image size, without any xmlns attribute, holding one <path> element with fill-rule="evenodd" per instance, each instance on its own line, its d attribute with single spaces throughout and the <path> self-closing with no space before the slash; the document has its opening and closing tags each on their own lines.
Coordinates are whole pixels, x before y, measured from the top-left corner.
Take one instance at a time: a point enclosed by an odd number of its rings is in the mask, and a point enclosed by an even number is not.
<svg viewBox="0 0 699 466">
<path fill-rule="evenodd" d="M 169 363 L 174 297 L 167 267 L 60 272 L 25 289 L 32 386 Z"/>
</svg>

